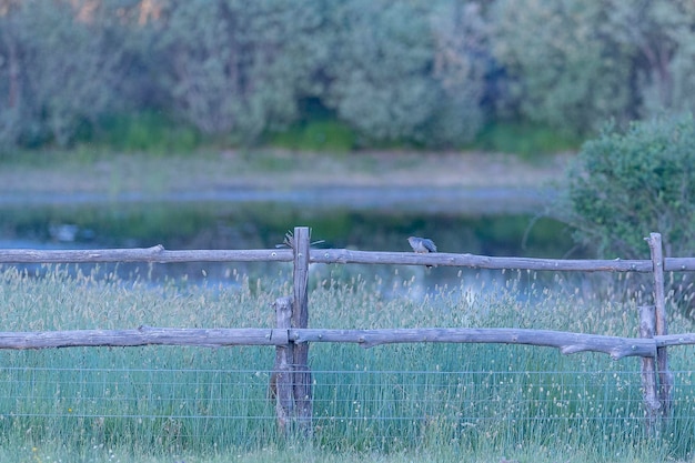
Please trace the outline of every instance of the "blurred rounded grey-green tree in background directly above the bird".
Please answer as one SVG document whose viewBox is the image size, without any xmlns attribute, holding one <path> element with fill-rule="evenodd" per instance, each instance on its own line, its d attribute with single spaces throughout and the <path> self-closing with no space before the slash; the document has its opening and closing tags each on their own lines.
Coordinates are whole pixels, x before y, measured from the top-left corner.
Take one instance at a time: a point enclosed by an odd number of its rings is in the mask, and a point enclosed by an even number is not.
<svg viewBox="0 0 695 463">
<path fill-rule="evenodd" d="M 446 147 L 475 137 L 491 56 L 477 3 L 343 0 L 326 19 L 323 102 L 367 143 Z"/>
</svg>

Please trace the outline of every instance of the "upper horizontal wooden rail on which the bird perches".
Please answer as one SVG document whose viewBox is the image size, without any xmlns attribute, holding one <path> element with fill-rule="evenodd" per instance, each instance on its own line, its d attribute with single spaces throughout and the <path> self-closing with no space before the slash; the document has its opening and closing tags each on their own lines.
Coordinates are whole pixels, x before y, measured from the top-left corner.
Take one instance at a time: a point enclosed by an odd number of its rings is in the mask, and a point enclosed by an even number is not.
<svg viewBox="0 0 695 463">
<path fill-rule="evenodd" d="M 291 249 L 259 250 L 183 250 L 168 251 L 161 244 L 135 249 L 92 250 L 0 250 L 0 263 L 99 263 L 99 262 L 292 262 Z M 348 249 L 312 249 L 311 263 L 364 263 L 393 265 L 467 266 L 491 270 L 536 270 L 578 272 L 653 271 L 651 260 L 567 260 L 534 258 L 497 258 L 476 254 L 354 251 Z M 695 271 L 695 258 L 666 258 L 664 270 Z"/>
</svg>

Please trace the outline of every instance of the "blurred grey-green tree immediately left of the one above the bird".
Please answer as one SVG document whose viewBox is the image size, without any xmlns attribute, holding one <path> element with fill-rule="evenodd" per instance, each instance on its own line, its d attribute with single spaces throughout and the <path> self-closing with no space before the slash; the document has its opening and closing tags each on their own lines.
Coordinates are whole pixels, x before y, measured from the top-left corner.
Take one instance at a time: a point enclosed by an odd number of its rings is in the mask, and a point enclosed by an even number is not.
<svg viewBox="0 0 695 463">
<path fill-rule="evenodd" d="M 315 3 L 170 2 L 155 49 L 178 114 L 203 133 L 245 139 L 295 119 L 313 58 L 302 37 L 315 27 Z"/>
</svg>

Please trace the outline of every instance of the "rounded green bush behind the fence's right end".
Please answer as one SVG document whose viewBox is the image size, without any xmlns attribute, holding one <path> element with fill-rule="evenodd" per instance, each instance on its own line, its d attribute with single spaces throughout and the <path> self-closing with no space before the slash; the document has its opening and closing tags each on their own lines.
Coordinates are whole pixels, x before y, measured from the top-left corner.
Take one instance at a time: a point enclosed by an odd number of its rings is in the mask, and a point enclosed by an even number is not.
<svg viewBox="0 0 695 463">
<path fill-rule="evenodd" d="M 684 256 L 695 248 L 694 169 L 691 114 L 612 125 L 582 147 L 556 210 L 600 255 L 644 258 L 657 231 L 667 256 Z"/>
</svg>

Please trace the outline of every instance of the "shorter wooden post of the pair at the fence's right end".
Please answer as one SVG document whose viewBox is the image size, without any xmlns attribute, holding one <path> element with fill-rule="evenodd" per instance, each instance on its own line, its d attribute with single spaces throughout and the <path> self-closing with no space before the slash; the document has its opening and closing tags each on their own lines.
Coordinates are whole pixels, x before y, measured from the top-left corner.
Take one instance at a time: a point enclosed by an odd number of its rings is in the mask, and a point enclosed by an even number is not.
<svg viewBox="0 0 695 463">
<path fill-rule="evenodd" d="M 654 338 L 654 305 L 643 305 L 639 308 L 639 336 L 645 339 Z M 656 354 L 656 352 L 655 352 Z M 656 381 L 656 359 L 654 356 L 642 358 L 642 397 L 646 412 L 646 431 L 649 435 L 655 435 L 661 430 L 661 403 L 658 401 L 658 387 Z"/>
</svg>

